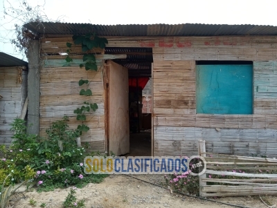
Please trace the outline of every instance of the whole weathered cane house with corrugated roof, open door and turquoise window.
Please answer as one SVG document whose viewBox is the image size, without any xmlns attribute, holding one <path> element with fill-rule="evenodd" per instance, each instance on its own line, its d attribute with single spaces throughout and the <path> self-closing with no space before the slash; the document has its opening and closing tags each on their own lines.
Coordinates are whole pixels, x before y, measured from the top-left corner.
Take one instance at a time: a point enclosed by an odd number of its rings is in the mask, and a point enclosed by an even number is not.
<svg viewBox="0 0 277 208">
<path fill-rule="evenodd" d="M 197 140 L 211 153 L 277 154 L 277 27 L 253 25 L 116 25 L 37 23 L 24 25 L 31 41 L 28 84 L 35 98 L 28 119 L 43 135 L 64 114 L 78 122 L 79 79 L 91 80 L 98 110 L 82 135 L 93 149 L 129 151 L 128 77 L 152 77 L 152 155 L 195 155 Z M 109 43 L 91 51 L 98 71 L 74 62 L 63 67 L 66 42 L 93 28 Z M 114 60 L 111 60 L 114 59 Z M 32 76 L 32 75 L 30 75 Z M 29 116 L 31 115 L 31 117 Z M 32 117 L 33 116 L 33 117 Z"/>
</svg>

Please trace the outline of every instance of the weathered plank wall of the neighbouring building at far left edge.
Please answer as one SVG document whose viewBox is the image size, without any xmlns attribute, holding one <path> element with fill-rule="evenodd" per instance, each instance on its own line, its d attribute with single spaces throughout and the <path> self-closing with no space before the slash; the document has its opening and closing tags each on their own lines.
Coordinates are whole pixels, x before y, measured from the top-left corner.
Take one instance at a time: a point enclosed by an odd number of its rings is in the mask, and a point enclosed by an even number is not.
<svg viewBox="0 0 277 208">
<path fill-rule="evenodd" d="M 27 75 L 20 67 L 0 68 L 0 144 L 10 145 L 10 124 L 20 116 L 27 97 Z"/>
</svg>

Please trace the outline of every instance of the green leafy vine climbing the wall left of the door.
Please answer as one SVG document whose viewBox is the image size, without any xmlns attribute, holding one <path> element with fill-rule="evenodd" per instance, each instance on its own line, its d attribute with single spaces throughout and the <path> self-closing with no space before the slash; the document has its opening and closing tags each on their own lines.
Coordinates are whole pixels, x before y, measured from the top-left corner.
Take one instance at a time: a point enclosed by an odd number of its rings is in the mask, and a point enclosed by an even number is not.
<svg viewBox="0 0 277 208">
<path fill-rule="evenodd" d="M 84 68 L 85 70 L 98 70 L 96 64 L 96 57 L 91 53 L 93 48 L 105 48 L 108 43 L 107 39 L 96 36 L 96 34 L 87 34 L 87 35 L 73 35 L 72 37 L 73 43 L 75 45 L 82 46 L 82 52 L 84 53 L 82 57 L 82 64 L 80 64 L 80 68 Z M 66 43 L 66 46 L 69 48 L 66 50 L 68 54 L 65 58 L 66 64 L 65 66 L 70 66 L 70 63 L 73 62 L 73 59 L 70 57 L 71 54 L 71 43 Z M 81 89 L 79 95 L 81 96 L 92 96 L 91 89 L 89 89 L 89 80 L 80 79 L 78 82 L 79 86 L 85 85 L 85 89 Z M 87 120 L 86 114 L 91 111 L 96 111 L 98 109 L 98 105 L 96 103 L 83 102 L 80 108 L 76 108 L 73 113 L 76 114 L 76 120 L 82 122 L 82 124 L 78 125 L 77 133 L 78 135 L 82 135 L 82 132 L 89 131 L 89 126 L 84 124 L 84 121 Z"/>
</svg>

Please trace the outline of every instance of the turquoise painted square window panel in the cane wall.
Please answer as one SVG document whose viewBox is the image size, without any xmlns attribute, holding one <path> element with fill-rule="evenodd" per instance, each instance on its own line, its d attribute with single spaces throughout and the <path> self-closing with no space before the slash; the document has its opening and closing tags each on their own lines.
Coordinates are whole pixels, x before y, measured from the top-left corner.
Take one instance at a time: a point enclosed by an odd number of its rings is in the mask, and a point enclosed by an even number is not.
<svg viewBox="0 0 277 208">
<path fill-rule="evenodd" d="M 253 66 L 196 66 L 196 113 L 252 114 Z"/>
</svg>

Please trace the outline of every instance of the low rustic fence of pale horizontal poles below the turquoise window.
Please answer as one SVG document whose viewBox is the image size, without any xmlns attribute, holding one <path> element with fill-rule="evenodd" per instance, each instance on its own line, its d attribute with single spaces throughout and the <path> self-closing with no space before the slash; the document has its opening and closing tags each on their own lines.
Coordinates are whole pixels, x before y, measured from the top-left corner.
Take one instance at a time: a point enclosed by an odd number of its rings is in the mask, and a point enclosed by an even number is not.
<svg viewBox="0 0 277 208">
<path fill-rule="evenodd" d="M 277 195 L 277 159 L 208 153 L 199 140 L 206 172 L 199 176 L 199 194 L 206 196 Z"/>
</svg>

